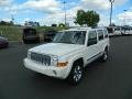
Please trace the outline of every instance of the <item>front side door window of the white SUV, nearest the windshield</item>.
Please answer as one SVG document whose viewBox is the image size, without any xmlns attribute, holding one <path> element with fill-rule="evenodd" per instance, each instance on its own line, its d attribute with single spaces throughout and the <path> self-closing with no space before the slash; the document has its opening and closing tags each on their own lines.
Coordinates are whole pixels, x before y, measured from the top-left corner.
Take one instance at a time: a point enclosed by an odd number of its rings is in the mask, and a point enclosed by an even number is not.
<svg viewBox="0 0 132 99">
<path fill-rule="evenodd" d="M 97 44 L 97 32 L 90 31 L 88 34 L 88 45 Z"/>
</svg>

